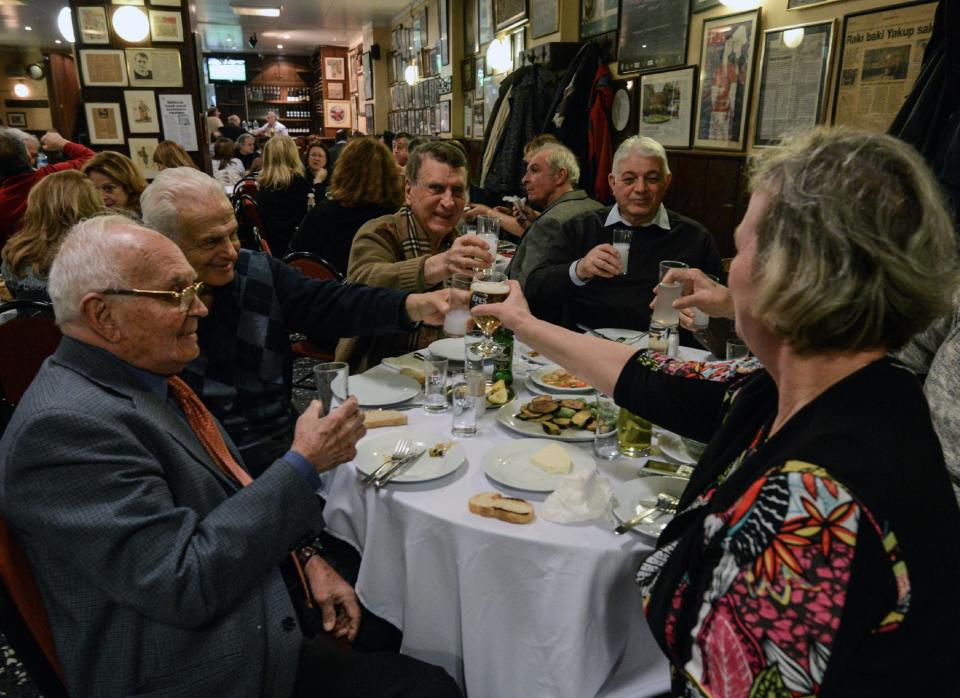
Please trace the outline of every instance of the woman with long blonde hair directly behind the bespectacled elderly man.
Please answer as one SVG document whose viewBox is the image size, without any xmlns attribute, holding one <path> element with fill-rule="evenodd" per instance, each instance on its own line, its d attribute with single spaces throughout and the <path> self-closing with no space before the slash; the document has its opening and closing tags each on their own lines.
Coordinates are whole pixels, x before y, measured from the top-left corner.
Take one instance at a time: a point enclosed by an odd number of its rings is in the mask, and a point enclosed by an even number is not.
<svg viewBox="0 0 960 698">
<path fill-rule="evenodd" d="M 3 280 L 14 298 L 49 301 L 47 275 L 67 231 L 102 212 L 93 183 L 76 170 L 48 175 L 30 190 L 23 224 L 3 248 Z"/>
</svg>

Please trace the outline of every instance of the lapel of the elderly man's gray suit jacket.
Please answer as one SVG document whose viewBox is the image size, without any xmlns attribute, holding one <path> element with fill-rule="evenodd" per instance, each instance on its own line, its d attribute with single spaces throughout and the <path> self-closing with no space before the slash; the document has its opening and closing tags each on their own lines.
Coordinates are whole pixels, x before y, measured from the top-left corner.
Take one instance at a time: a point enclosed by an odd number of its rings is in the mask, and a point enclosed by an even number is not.
<svg viewBox="0 0 960 698">
<path fill-rule="evenodd" d="M 144 415 L 152 424 L 166 431 L 184 450 L 214 477 L 223 483 L 228 492 L 235 492 L 240 486 L 227 476 L 213 462 L 197 435 L 185 418 L 176 414 L 176 408 L 160 400 L 131 371 L 125 369 L 118 359 L 105 356 L 101 350 L 70 337 L 64 337 L 53 355 L 53 360 L 76 371 L 104 390 L 127 398 L 133 408 Z M 219 426 L 219 425 L 218 425 Z M 221 433 L 223 429 L 221 427 Z M 224 434 L 231 453 L 237 457 L 230 437 Z M 239 458 L 238 463 L 243 461 Z"/>
</svg>

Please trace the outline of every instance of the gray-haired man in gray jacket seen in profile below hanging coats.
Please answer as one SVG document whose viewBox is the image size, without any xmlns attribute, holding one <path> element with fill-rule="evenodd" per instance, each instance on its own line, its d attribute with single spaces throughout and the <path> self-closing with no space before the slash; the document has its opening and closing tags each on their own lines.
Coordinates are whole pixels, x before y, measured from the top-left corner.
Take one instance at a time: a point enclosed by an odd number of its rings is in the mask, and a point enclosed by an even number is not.
<svg viewBox="0 0 960 698">
<path fill-rule="evenodd" d="M 577 156 L 561 143 L 548 143 L 530 153 L 523 188 L 527 203 L 543 212 L 520 238 L 516 254 L 507 270 L 511 279 L 523 286 L 530 270 L 557 244 L 563 224 L 583 213 L 603 208 L 582 189 Z"/>
</svg>

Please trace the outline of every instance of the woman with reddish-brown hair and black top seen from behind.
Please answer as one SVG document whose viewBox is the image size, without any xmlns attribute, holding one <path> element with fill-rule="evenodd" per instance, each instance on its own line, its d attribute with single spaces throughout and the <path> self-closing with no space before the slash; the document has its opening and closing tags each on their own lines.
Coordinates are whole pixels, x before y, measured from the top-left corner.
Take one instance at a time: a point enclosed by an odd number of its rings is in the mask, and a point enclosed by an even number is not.
<svg viewBox="0 0 960 698">
<path fill-rule="evenodd" d="M 372 138 L 354 138 L 337 158 L 327 198 L 317 199 L 290 248 L 318 254 L 346 274 L 360 226 L 402 204 L 403 187 L 390 151 Z"/>
</svg>

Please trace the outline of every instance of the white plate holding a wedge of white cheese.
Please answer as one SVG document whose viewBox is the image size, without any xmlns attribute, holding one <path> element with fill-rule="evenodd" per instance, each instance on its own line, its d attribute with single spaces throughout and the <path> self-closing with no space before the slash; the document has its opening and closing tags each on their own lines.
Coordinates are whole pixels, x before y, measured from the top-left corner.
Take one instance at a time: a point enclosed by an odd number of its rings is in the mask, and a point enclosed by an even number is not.
<svg viewBox="0 0 960 698">
<path fill-rule="evenodd" d="M 549 439 L 518 439 L 494 446 L 483 455 L 483 472 L 518 490 L 553 492 L 571 473 L 596 470 L 585 451 Z"/>
</svg>

